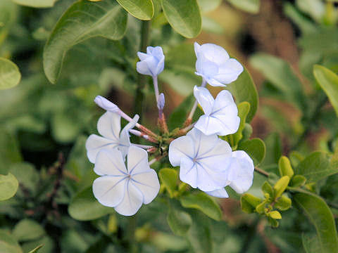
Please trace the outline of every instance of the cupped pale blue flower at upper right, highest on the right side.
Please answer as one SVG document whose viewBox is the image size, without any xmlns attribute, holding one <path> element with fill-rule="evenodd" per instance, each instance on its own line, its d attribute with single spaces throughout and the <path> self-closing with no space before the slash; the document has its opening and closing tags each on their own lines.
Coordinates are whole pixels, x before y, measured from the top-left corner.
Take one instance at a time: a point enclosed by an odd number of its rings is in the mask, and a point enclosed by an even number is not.
<svg viewBox="0 0 338 253">
<path fill-rule="evenodd" d="M 195 42 L 196 72 L 212 86 L 225 86 L 237 79 L 243 72 L 242 65 L 230 58 L 227 51 L 215 44 L 199 45 Z"/>
</svg>

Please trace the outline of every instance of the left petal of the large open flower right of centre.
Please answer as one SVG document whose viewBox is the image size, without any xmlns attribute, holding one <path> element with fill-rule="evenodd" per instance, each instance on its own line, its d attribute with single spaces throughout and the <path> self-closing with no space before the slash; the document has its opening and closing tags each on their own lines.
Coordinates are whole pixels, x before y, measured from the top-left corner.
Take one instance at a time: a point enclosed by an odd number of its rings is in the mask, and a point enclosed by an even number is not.
<svg viewBox="0 0 338 253">
<path fill-rule="evenodd" d="M 194 153 L 194 142 L 189 136 L 182 136 L 176 138 L 169 145 L 169 161 L 173 166 L 179 166 L 181 158 L 193 158 Z"/>
</svg>

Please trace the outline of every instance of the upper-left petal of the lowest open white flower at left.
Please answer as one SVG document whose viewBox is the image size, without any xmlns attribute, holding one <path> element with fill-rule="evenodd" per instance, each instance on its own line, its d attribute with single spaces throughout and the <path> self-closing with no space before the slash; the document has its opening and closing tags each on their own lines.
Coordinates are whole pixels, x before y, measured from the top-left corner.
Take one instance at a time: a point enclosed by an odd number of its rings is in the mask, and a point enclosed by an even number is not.
<svg viewBox="0 0 338 253">
<path fill-rule="evenodd" d="M 101 150 L 96 156 L 94 172 L 100 176 L 127 176 L 127 169 L 120 150 L 116 148 Z"/>
</svg>

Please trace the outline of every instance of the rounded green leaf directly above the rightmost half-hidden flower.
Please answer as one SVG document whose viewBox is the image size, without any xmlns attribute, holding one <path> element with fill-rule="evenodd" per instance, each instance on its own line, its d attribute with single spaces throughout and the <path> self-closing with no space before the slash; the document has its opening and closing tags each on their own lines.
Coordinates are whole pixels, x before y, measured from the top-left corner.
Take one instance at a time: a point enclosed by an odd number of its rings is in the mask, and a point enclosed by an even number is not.
<svg viewBox="0 0 338 253">
<path fill-rule="evenodd" d="M 253 164 L 257 166 L 265 157 L 265 144 L 260 138 L 239 143 L 238 150 L 244 150 L 252 158 Z"/>
</svg>

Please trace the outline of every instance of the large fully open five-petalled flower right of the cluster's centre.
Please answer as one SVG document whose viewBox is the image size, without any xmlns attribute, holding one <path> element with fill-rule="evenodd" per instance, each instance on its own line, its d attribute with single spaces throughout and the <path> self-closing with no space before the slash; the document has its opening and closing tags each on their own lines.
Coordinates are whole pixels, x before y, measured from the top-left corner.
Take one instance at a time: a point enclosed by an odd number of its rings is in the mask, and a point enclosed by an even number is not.
<svg viewBox="0 0 338 253">
<path fill-rule="evenodd" d="M 193 188 L 212 191 L 227 186 L 225 163 L 231 157 L 230 145 L 213 134 L 206 136 L 192 129 L 169 146 L 169 160 L 180 166 L 180 179 Z"/>
</svg>

